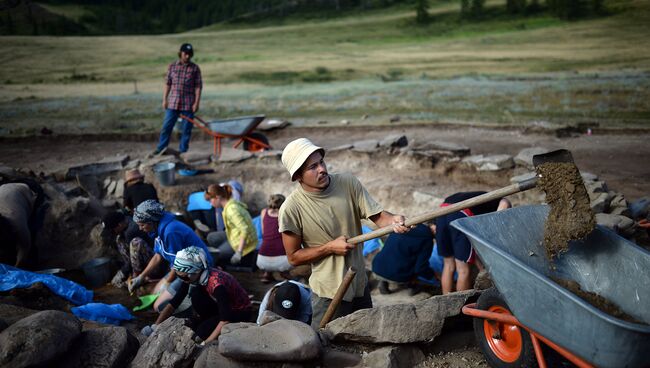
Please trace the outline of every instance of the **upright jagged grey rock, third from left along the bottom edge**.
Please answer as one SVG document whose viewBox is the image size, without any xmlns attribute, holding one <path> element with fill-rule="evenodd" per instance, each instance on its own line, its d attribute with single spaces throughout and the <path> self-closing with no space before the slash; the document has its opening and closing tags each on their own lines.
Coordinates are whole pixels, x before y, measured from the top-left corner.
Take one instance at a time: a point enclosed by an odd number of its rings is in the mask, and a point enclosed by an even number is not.
<svg viewBox="0 0 650 368">
<path fill-rule="evenodd" d="M 170 317 L 158 325 L 156 331 L 142 344 L 131 366 L 190 367 L 198 347 L 193 336 L 194 332 L 185 325 L 185 320 Z"/>
</svg>

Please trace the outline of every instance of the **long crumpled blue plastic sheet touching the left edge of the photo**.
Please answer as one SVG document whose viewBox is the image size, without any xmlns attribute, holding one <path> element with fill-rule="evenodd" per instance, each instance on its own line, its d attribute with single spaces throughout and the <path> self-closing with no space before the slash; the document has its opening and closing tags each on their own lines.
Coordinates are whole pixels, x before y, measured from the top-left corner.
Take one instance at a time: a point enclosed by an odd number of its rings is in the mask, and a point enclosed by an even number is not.
<svg viewBox="0 0 650 368">
<path fill-rule="evenodd" d="M 28 288 L 41 282 L 54 294 L 81 305 L 93 300 L 93 292 L 64 278 L 21 270 L 0 263 L 0 291 Z"/>
</svg>

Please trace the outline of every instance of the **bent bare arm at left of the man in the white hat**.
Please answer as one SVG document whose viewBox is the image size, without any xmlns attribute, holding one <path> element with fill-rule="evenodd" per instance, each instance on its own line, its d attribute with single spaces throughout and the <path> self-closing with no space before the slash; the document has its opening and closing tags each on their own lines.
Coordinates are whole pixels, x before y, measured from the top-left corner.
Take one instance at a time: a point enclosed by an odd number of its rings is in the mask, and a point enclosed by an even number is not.
<svg viewBox="0 0 650 368">
<path fill-rule="evenodd" d="M 282 233 L 282 243 L 292 266 L 314 263 L 332 254 L 346 255 L 355 247 L 347 243 L 344 236 L 339 236 L 320 247 L 303 248 L 302 237 L 289 231 Z"/>
</svg>

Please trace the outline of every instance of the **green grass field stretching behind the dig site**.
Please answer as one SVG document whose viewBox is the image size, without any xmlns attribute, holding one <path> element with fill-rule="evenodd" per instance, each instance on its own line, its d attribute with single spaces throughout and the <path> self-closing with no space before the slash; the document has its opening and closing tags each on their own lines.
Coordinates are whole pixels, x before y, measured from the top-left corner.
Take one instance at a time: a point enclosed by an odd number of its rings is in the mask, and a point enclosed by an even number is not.
<svg viewBox="0 0 650 368">
<path fill-rule="evenodd" d="M 605 4 L 610 15 L 577 22 L 467 22 L 458 2 L 431 1 L 425 26 L 397 7 L 174 35 L 1 37 L 0 134 L 157 130 L 182 42 L 197 50 L 209 118 L 648 127 L 650 1 Z"/>
</svg>

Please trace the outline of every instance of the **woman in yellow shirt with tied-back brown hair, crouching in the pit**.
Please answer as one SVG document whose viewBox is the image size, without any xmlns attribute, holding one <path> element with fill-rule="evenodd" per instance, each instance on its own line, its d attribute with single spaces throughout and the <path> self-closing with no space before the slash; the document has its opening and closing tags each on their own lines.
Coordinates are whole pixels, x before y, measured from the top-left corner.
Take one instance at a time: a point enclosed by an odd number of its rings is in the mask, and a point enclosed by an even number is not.
<svg viewBox="0 0 650 368">
<path fill-rule="evenodd" d="M 218 263 L 230 260 L 234 265 L 254 265 L 257 231 L 246 205 L 233 198 L 232 188 L 228 184 L 210 185 L 205 199 L 213 207 L 223 208 L 225 237 L 220 232 L 208 234 L 208 243 L 219 249 Z"/>
</svg>

